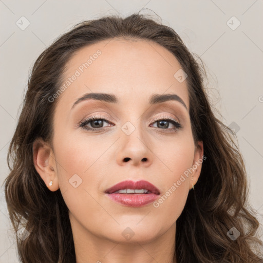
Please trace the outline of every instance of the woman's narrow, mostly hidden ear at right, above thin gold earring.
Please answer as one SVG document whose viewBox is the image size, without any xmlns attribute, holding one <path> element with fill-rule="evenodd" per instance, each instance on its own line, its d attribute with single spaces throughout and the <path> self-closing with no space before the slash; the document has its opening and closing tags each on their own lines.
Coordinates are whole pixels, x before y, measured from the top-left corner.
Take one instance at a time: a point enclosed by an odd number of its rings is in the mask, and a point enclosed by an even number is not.
<svg viewBox="0 0 263 263">
<path fill-rule="evenodd" d="M 190 169 L 192 173 L 189 181 L 189 190 L 193 188 L 193 184 L 195 185 L 197 183 L 201 174 L 202 163 L 205 159 L 206 157 L 203 157 L 203 142 L 198 141 L 197 146 L 195 147 L 195 156 L 191 167 L 192 169 Z"/>
</svg>

